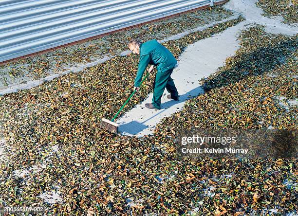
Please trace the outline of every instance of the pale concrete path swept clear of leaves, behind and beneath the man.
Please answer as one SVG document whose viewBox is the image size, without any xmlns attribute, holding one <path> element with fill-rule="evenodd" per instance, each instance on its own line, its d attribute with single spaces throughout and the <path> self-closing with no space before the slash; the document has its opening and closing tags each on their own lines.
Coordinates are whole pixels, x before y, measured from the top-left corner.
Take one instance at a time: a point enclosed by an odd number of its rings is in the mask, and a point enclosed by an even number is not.
<svg viewBox="0 0 298 216">
<path fill-rule="evenodd" d="M 187 99 L 204 93 L 198 80 L 216 72 L 225 59 L 240 48 L 237 36 L 252 25 L 263 24 L 269 33 L 295 35 L 297 27 L 281 23 L 282 18 L 262 17 L 262 9 L 255 5 L 257 0 L 231 0 L 224 8 L 242 14 L 245 21 L 230 27 L 220 34 L 189 45 L 179 58 L 179 65 L 171 75 L 180 95 L 179 101 L 168 100 L 167 90 L 161 100 L 161 110 L 145 108 L 151 103 L 152 93 L 140 105 L 125 113 L 117 123 L 122 135 L 144 136 L 153 133 L 155 126 L 166 116 L 180 111 Z"/>
</svg>

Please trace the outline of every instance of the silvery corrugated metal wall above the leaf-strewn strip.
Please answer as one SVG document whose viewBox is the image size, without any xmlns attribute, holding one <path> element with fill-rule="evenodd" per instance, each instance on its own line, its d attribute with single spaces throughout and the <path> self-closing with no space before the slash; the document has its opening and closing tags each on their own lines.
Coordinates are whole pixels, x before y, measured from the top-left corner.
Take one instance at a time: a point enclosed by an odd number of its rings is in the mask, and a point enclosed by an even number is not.
<svg viewBox="0 0 298 216">
<path fill-rule="evenodd" d="M 0 0 L 0 62 L 223 0 Z"/>
</svg>

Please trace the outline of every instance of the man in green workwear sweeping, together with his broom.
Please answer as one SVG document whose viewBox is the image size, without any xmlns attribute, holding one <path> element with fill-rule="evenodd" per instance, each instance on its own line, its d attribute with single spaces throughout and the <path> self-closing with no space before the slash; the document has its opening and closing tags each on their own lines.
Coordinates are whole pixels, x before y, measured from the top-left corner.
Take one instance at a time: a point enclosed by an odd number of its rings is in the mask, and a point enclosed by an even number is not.
<svg viewBox="0 0 298 216">
<path fill-rule="evenodd" d="M 171 52 L 161 45 L 157 40 L 149 40 L 146 43 L 141 43 L 139 40 L 131 40 L 128 44 L 129 49 L 133 54 L 140 55 L 140 61 L 138 66 L 138 72 L 136 74 L 134 80 L 134 88 L 130 97 L 126 100 L 123 106 L 118 110 L 116 115 L 112 118 L 112 120 L 108 120 L 103 118 L 100 123 L 100 127 L 109 130 L 112 133 L 119 132 L 119 125 L 114 122 L 115 118 L 118 116 L 120 111 L 124 108 L 124 106 L 129 102 L 132 95 L 139 90 L 140 85 L 144 82 L 146 77 L 142 80 L 142 76 L 150 64 L 148 72 L 153 70 L 154 66 L 157 66 L 157 73 L 154 79 L 153 84 L 153 98 L 151 104 L 145 104 L 145 107 L 149 109 L 160 109 L 160 100 L 162 94 L 164 93 L 165 88 L 167 88 L 170 93 L 167 97 L 168 99 L 178 100 L 178 91 L 175 87 L 173 79 L 170 77 L 173 69 L 177 63 L 177 60 L 171 54 Z"/>
</svg>

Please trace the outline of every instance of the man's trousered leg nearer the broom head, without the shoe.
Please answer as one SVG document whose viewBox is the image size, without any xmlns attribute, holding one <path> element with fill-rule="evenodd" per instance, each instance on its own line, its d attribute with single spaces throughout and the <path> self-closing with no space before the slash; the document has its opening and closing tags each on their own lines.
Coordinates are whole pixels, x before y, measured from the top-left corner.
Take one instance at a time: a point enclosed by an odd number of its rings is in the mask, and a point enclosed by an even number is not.
<svg viewBox="0 0 298 216">
<path fill-rule="evenodd" d="M 166 72 L 157 71 L 157 73 L 156 73 L 155 82 L 154 82 L 154 90 L 153 90 L 153 98 L 152 98 L 152 104 L 155 108 L 160 108 L 161 97 L 166 89 L 166 86 L 168 84 L 168 79 L 170 78 L 172 71 L 173 71 L 173 69 L 168 70 Z M 174 84 L 174 82 L 171 83 L 171 81 L 170 81 L 169 88 L 173 88 L 173 86 L 175 86 L 173 84 Z M 176 89 L 176 87 L 175 87 L 175 89 Z M 177 92 L 177 94 L 178 94 L 178 92 Z"/>
</svg>

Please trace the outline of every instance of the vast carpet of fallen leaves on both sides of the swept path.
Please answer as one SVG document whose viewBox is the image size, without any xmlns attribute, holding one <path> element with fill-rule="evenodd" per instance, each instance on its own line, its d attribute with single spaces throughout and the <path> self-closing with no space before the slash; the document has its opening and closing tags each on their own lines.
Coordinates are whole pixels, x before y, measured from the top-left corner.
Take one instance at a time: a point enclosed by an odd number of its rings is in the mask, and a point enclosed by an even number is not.
<svg viewBox="0 0 298 216">
<path fill-rule="evenodd" d="M 242 20 L 164 45 L 178 57 L 188 44 Z M 9 146 L 0 167 L 0 204 L 28 206 L 55 193 L 61 199 L 47 204 L 50 214 L 294 212 L 297 160 L 192 162 L 175 154 L 174 138 L 181 128 L 297 129 L 297 106 L 291 102 L 297 98 L 297 36 L 269 35 L 257 26 L 239 39 L 237 54 L 202 80 L 206 92 L 166 118 L 153 136 L 122 137 L 98 126 L 131 93 L 138 56 L 116 57 L 0 97 L 0 123 Z M 152 77 L 149 80 L 126 110 L 152 91 Z"/>
</svg>

